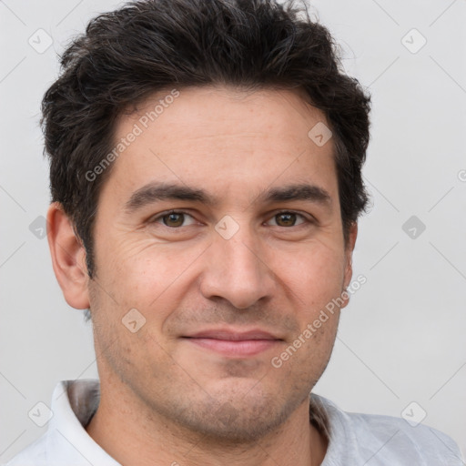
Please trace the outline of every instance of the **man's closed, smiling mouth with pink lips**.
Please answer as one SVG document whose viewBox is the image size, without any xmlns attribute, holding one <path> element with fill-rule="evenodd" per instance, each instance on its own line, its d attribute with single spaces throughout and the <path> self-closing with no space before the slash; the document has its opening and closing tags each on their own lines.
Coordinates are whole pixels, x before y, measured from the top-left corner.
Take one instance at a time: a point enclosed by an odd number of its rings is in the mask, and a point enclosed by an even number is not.
<svg viewBox="0 0 466 466">
<path fill-rule="evenodd" d="M 189 343 L 229 357 L 248 357 L 276 348 L 284 340 L 271 333 L 252 329 L 208 329 L 184 336 Z"/>
</svg>

